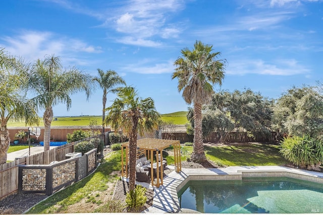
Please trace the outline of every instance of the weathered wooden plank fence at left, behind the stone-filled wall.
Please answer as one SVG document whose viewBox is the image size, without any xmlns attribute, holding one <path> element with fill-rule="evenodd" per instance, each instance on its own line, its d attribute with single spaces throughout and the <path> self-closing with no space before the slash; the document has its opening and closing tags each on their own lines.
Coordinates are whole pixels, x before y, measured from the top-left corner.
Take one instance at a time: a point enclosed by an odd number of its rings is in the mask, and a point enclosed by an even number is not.
<svg viewBox="0 0 323 215">
<path fill-rule="evenodd" d="M 18 191 L 18 166 L 50 164 L 52 161 L 62 161 L 65 155 L 74 152 L 74 143 L 56 147 L 29 157 L 23 157 L 10 163 L 0 165 L 0 200 Z"/>
</svg>

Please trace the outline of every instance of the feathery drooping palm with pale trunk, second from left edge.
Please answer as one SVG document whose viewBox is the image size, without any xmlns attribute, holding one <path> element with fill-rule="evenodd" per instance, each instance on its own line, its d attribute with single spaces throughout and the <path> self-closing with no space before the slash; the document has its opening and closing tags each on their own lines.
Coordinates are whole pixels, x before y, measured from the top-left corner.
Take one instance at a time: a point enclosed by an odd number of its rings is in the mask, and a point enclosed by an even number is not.
<svg viewBox="0 0 323 215">
<path fill-rule="evenodd" d="M 43 108 L 44 151 L 49 150 L 50 124 L 53 117 L 52 106 L 66 103 L 71 108 L 71 95 L 85 91 L 88 99 L 93 89 L 92 77 L 71 67 L 63 69 L 60 57 L 46 56 L 37 59 L 28 77 L 28 89 L 36 95 L 32 100 L 37 107 Z"/>
</svg>

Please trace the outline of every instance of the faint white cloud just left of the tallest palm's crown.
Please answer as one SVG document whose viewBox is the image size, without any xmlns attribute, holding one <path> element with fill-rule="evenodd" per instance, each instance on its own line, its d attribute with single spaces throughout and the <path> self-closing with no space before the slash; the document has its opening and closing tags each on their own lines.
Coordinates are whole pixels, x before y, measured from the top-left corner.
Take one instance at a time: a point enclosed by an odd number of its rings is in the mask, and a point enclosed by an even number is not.
<svg viewBox="0 0 323 215">
<path fill-rule="evenodd" d="M 145 59 L 136 64 L 129 64 L 122 69 L 131 73 L 139 74 L 166 74 L 174 72 L 174 60 L 169 60 L 164 63 L 153 63 L 152 61 L 153 60 Z"/>
</svg>

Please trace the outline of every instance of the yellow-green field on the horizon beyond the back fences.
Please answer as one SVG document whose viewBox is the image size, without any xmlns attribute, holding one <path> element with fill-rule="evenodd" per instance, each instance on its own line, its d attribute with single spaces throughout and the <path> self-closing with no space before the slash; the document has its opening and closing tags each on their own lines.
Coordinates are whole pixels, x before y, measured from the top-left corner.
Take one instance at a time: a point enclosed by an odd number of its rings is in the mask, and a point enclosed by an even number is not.
<svg viewBox="0 0 323 215">
<path fill-rule="evenodd" d="M 55 120 L 57 119 L 57 120 Z M 100 123 L 102 121 L 101 116 L 64 116 L 54 117 L 51 126 L 86 126 L 89 125 L 91 119 L 95 119 Z M 166 122 L 173 122 L 177 125 L 184 125 L 187 122 L 186 111 L 180 111 L 175 113 L 161 114 L 161 119 Z M 23 122 L 9 122 L 8 127 L 24 127 Z M 44 126 L 41 119 L 39 126 Z"/>
</svg>

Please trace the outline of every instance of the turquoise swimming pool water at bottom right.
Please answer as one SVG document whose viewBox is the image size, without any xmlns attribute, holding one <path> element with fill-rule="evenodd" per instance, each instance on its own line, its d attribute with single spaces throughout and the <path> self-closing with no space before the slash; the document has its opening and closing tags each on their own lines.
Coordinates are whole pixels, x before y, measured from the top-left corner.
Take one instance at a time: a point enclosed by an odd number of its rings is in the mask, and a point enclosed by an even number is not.
<svg viewBox="0 0 323 215">
<path fill-rule="evenodd" d="M 189 181 L 178 196 L 182 208 L 203 213 L 323 212 L 323 184 L 287 177 Z"/>
</svg>

